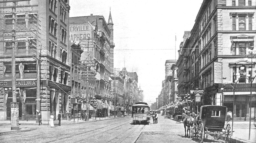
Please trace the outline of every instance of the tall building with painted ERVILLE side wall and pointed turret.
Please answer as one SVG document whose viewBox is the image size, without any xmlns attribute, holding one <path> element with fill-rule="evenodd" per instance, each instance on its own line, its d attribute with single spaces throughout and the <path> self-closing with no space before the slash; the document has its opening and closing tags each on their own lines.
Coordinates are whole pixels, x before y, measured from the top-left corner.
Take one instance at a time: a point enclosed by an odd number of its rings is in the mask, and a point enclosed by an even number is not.
<svg viewBox="0 0 256 143">
<path fill-rule="evenodd" d="M 70 40 L 79 41 L 84 50 L 81 61 L 94 63 L 90 71 L 96 73 L 89 83 L 91 97 L 101 97 L 107 103 L 114 100 L 110 93 L 110 76 L 114 61 L 113 21 L 111 12 L 108 23 L 102 15 L 70 18 Z M 89 55 L 89 56 L 88 56 Z"/>
</svg>

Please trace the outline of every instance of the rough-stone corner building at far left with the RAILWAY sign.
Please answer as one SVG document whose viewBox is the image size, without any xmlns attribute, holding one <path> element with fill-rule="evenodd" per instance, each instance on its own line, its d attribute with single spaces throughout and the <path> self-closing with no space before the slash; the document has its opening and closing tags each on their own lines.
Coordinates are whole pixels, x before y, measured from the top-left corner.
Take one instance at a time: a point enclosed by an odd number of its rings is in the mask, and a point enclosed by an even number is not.
<svg viewBox="0 0 256 143">
<path fill-rule="evenodd" d="M 39 110 L 42 120 L 48 120 L 51 113 L 56 115 L 59 111 L 65 113 L 69 109 L 69 0 L 30 0 L 17 1 L 15 4 L 16 6 L 13 6 L 13 2 L 1 3 L 1 11 L 6 12 L 1 13 L 3 31 L 0 37 L 4 42 L 0 43 L 0 83 L 3 83 L 0 90 L 4 93 L 0 98 L 4 100 L 0 101 L 0 119 L 11 119 L 13 42 L 16 47 L 19 118 L 35 120 L 36 110 Z M 15 9 L 14 13 L 11 12 L 12 8 Z M 18 18 L 14 20 L 15 23 L 12 23 L 13 15 Z M 13 24 L 16 25 L 14 29 Z M 11 34 L 12 30 L 15 35 Z M 12 41 L 12 36 L 15 41 Z M 40 82 L 36 82 L 38 74 Z M 38 84 L 39 90 L 36 89 Z"/>
</svg>

